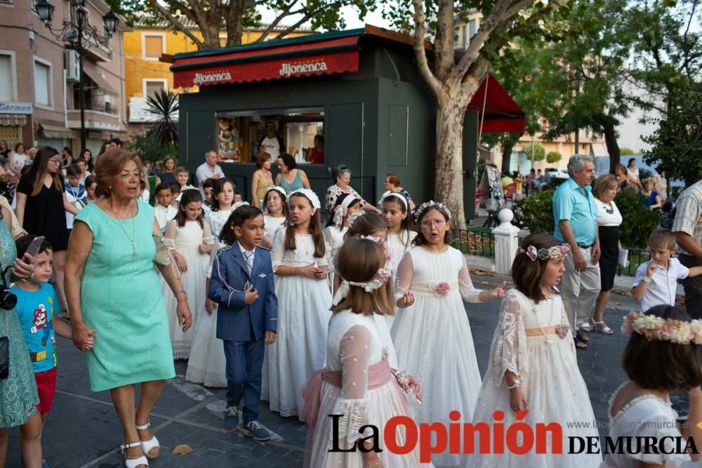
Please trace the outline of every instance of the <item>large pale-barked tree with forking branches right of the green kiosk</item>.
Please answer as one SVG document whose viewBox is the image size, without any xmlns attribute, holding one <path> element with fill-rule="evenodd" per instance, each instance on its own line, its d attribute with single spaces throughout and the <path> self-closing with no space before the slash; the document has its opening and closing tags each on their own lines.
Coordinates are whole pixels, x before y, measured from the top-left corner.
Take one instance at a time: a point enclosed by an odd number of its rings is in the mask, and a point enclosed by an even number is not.
<svg viewBox="0 0 702 468">
<path fill-rule="evenodd" d="M 437 101 L 435 199 L 446 203 L 458 228 L 465 228 L 462 151 L 465 107 L 505 45 L 519 36 L 539 34 L 542 22 L 560 4 L 560 1 L 463 0 L 454 5 L 453 0 L 412 0 L 411 8 L 409 2 L 399 2 L 386 11 L 401 29 L 414 29 L 419 71 Z M 453 47 L 455 20 L 467 20 L 476 9 L 482 13 L 480 27 L 457 57 Z M 429 48 L 431 65 L 425 42 L 430 36 L 433 36 Z"/>
</svg>

